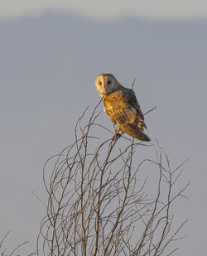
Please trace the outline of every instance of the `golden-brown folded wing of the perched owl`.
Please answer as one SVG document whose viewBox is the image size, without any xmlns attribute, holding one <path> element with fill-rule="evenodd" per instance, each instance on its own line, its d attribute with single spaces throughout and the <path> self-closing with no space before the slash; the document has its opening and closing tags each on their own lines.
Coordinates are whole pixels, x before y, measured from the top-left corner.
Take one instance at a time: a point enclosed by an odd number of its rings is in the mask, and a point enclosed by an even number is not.
<svg viewBox="0 0 207 256">
<path fill-rule="evenodd" d="M 103 106 L 109 118 L 127 133 L 126 128 L 146 127 L 144 116 L 132 89 L 123 88 L 104 96 Z"/>
</svg>

